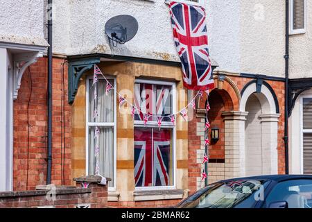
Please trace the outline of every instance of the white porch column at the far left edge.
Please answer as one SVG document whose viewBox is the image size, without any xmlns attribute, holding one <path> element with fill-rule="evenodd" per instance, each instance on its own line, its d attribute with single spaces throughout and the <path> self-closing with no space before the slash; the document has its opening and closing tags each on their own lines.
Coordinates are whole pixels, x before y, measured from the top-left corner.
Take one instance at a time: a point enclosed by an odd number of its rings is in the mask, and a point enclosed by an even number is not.
<svg viewBox="0 0 312 222">
<path fill-rule="evenodd" d="M 7 191 L 8 182 L 8 52 L 0 48 L 0 191 Z"/>
</svg>

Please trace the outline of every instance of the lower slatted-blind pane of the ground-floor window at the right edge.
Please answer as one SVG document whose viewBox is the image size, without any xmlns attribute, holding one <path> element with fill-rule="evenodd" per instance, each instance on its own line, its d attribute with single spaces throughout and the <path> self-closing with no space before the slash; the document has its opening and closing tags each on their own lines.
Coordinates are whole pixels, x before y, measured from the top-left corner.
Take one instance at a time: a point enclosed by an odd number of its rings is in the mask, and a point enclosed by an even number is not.
<svg viewBox="0 0 312 222">
<path fill-rule="evenodd" d="M 304 133 L 304 174 L 312 175 L 312 133 Z"/>
</svg>

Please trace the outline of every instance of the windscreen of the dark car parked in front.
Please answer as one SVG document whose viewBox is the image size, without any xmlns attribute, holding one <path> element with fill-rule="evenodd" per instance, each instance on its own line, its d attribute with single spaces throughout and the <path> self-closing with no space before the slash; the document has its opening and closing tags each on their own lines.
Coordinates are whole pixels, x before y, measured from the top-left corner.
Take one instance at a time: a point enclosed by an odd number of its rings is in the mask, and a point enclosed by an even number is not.
<svg viewBox="0 0 312 222">
<path fill-rule="evenodd" d="M 252 207 L 264 194 L 265 180 L 219 182 L 184 200 L 178 208 Z"/>
</svg>

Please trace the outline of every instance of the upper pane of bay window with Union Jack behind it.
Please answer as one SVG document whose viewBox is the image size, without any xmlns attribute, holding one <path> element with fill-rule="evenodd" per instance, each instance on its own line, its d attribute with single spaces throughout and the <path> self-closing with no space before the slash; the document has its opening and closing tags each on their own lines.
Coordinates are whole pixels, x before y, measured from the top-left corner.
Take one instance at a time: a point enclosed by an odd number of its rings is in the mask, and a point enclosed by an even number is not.
<svg viewBox="0 0 312 222">
<path fill-rule="evenodd" d="M 136 83 L 135 105 L 141 109 L 141 112 L 147 114 L 157 114 L 163 117 L 173 114 L 172 87 Z M 137 111 L 135 120 L 143 121 L 143 119 L 143 114 Z M 149 121 L 157 121 L 157 117 L 155 119 L 150 118 Z M 163 121 L 170 121 L 170 118 L 166 117 Z"/>
</svg>

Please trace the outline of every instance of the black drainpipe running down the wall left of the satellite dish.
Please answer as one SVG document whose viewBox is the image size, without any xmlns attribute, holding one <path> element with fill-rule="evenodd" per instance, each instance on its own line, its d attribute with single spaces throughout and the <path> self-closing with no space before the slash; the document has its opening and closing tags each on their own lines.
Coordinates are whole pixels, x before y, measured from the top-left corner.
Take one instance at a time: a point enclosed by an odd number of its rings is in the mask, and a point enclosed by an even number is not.
<svg viewBox="0 0 312 222">
<path fill-rule="evenodd" d="M 46 184 L 51 184 L 52 171 L 52 0 L 48 0 L 48 166 Z"/>
</svg>

